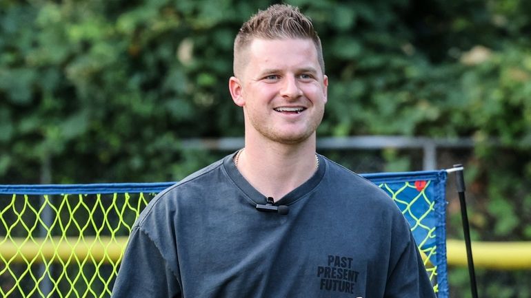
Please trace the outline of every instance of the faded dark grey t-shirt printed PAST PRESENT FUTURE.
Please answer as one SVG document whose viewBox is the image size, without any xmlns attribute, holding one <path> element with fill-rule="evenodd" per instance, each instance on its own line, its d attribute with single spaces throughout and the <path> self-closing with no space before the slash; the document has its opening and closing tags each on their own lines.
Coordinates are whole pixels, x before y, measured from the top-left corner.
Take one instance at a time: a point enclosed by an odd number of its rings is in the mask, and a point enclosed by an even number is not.
<svg viewBox="0 0 531 298">
<path fill-rule="evenodd" d="M 233 156 L 148 204 L 112 297 L 435 297 L 410 226 L 372 182 L 319 156 L 274 204 L 287 215 L 261 212 Z"/>
</svg>

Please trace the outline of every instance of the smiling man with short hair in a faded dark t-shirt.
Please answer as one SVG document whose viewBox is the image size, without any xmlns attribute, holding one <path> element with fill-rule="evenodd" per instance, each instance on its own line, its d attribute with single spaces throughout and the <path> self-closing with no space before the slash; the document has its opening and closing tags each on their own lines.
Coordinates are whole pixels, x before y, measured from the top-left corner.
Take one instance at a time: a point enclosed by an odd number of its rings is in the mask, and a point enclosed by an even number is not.
<svg viewBox="0 0 531 298">
<path fill-rule="evenodd" d="M 315 152 L 327 88 L 299 10 L 243 24 L 229 89 L 245 147 L 150 202 L 112 296 L 435 297 L 394 202 Z"/>
</svg>

